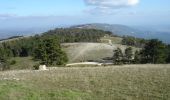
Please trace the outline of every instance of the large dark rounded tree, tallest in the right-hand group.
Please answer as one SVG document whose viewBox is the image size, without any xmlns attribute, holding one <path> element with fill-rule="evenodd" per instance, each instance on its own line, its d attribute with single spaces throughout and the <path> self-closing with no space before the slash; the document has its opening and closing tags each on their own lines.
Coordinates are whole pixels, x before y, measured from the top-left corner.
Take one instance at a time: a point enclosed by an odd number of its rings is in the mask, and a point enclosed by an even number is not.
<svg viewBox="0 0 170 100">
<path fill-rule="evenodd" d="M 165 44 L 157 39 L 150 40 L 142 50 L 143 63 L 165 63 L 166 51 Z"/>
</svg>

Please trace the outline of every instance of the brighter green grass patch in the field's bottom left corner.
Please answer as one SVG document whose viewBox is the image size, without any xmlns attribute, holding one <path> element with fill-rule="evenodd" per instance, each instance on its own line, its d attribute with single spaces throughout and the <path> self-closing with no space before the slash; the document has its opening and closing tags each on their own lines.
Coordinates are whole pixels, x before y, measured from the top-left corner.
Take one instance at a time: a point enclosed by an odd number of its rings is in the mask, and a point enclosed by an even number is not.
<svg viewBox="0 0 170 100">
<path fill-rule="evenodd" d="M 1 100 L 78 100 L 89 95 L 81 91 L 73 90 L 39 90 L 24 85 L 22 82 L 4 81 L 0 84 Z"/>
</svg>

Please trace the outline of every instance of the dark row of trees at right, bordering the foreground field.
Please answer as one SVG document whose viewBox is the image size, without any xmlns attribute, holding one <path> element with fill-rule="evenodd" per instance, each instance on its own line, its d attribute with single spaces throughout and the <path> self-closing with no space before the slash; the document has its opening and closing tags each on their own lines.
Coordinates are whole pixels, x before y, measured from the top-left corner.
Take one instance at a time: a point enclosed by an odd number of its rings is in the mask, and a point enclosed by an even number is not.
<svg viewBox="0 0 170 100">
<path fill-rule="evenodd" d="M 170 63 L 170 45 L 157 39 L 148 40 L 142 50 L 133 53 L 131 47 L 123 53 L 120 48 L 114 50 L 114 64 L 166 64 Z"/>
</svg>

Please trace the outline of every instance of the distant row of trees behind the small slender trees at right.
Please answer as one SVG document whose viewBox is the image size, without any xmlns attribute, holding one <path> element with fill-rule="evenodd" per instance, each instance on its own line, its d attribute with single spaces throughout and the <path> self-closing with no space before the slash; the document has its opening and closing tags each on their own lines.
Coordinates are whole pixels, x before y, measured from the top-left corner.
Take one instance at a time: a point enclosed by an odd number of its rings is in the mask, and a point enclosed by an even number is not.
<svg viewBox="0 0 170 100">
<path fill-rule="evenodd" d="M 122 39 L 123 45 L 135 46 L 135 47 L 140 47 L 140 48 L 143 48 L 145 44 L 148 42 L 148 40 L 146 39 L 135 38 L 132 36 L 123 36 L 122 38 L 123 38 Z"/>
</svg>

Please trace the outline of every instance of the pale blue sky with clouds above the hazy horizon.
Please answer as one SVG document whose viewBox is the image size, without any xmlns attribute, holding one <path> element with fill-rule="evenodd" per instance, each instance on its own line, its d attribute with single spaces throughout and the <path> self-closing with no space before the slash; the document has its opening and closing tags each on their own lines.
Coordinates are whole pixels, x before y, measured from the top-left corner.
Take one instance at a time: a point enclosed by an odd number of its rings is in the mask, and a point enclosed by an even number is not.
<svg viewBox="0 0 170 100">
<path fill-rule="evenodd" d="M 85 23 L 170 25 L 170 0 L 0 0 L 0 29 Z"/>
</svg>

